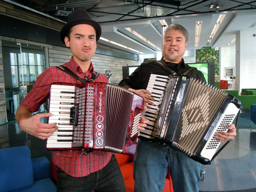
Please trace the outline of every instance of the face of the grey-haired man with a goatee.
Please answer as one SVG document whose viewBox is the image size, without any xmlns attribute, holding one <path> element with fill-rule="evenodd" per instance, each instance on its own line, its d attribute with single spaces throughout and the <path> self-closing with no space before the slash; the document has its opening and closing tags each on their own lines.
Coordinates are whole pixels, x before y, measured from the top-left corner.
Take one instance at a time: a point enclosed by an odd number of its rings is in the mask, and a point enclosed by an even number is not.
<svg viewBox="0 0 256 192">
<path fill-rule="evenodd" d="M 179 30 L 169 30 L 163 39 L 163 58 L 165 61 L 180 63 L 187 43 L 186 38 Z"/>
</svg>

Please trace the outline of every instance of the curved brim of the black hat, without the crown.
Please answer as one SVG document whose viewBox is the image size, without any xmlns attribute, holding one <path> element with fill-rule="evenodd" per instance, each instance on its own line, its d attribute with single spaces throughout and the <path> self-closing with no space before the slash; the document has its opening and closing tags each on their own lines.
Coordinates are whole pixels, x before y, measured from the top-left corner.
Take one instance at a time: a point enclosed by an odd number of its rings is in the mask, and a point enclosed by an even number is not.
<svg viewBox="0 0 256 192">
<path fill-rule="evenodd" d="M 65 44 L 64 38 L 67 36 L 69 30 L 76 25 L 80 25 L 80 24 L 87 24 L 90 26 L 93 26 L 93 28 L 96 31 L 96 41 L 99 40 L 100 36 L 101 36 L 101 27 L 99 25 L 99 23 L 97 23 L 94 20 L 88 20 L 88 19 L 80 19 L 80 20 L 75 20 L 72 21 L 70 23 L 67 23 L 66 25 L 63 26 L 63 28 L 61 29 L 61 41 Z"/>
</svg>

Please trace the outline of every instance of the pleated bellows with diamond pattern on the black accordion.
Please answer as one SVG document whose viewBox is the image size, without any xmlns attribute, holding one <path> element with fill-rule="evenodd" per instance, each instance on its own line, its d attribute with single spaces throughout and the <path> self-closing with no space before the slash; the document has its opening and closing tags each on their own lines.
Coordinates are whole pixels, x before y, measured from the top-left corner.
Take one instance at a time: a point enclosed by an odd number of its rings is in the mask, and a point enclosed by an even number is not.
<svg viewBox="0 0 256 192">
<path fill-rule="evenodd" d="M 198 142 L 204 137 L 212 119 L 214 111 L 217 111 L 227 94 L 212 86 L 192 79 L 189 82 L 184 105 L 181 112 L 181 121 L 177 126 L 177 134 L 174 140 L 177 148 L 188 156 L 191 156 Z"/>
</svg>

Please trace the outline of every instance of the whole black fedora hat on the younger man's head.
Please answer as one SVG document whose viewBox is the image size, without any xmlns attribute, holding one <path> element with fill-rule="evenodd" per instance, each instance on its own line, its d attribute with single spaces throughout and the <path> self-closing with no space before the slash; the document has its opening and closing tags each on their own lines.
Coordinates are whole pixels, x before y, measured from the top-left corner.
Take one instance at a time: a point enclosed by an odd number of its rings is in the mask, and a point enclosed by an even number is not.
<svg viewBox="0 0 256 192">
<path fill-rule="evenodd" d="M 64 25 L 61 29 L 61 41 L 64 44 L 65 44 L 64 38 L 67 36 L 67 33 L 69 32 L 69 30 L 73 26 L 76 26 L 79 24 L 87 24 L 87 25 L 93 26 L 93 28 L 96 31 L 96 41 L 99 40 L 101 35 L 101 27 L 99 23 L 97 23 L 95 20 L 92 20 L 86 10 L 78 9 L 70 14 L 70 16 L 67 19 L 66 25 Z"/>
</svg>

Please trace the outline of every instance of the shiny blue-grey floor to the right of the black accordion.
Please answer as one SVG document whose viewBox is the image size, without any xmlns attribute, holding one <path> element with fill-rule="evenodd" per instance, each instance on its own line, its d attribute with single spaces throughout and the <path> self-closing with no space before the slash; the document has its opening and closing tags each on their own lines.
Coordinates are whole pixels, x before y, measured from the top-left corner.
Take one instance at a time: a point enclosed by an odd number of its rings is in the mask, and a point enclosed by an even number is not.
<svg viewBox="0 0 256 192">
<path fill-rule="evenodd" d="M 201 191 L 256 192 L 256 125 L 252 133 L 250 128 L 250 110 L 242 110 L 235 140 L 210 165 L 202 166 L 205 174 L 199 183 Z"/>
</svg>

